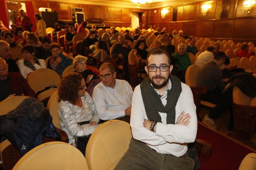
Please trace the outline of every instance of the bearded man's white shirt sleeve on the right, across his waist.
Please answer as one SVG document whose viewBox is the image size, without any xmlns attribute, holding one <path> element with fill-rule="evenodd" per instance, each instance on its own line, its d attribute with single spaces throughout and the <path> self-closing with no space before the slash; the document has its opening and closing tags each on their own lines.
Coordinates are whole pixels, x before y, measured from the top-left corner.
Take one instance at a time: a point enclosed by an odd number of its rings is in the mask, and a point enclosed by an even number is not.
<svg viewBox="0 0 256 170">
<path fill-rule="evenodd" d="M 183 86 L 182 93 L 183 95 L 181 95 L 179 99 L 181 100 L 179 103 L 182 104 L 181 112 L 184 111 L 185 114 L 190 114 L 190 123 L 186 126 L 173 124 L 165 125 L 161 122 L 157 123 L 156 135 L 161 136 L 168 143 L 192 143 L 195 141 L 197 136 L 197 113 L 192 91 L 190 87 Z M 177 119 L 178 117 L 176 113 L 176 121 Z"/>
</svg>

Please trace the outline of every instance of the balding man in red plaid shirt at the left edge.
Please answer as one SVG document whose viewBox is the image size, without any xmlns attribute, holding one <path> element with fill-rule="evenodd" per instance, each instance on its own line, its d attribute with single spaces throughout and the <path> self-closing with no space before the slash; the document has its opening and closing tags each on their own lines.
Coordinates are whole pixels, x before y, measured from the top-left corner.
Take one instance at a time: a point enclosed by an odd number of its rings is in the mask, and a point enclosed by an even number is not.
<svg viewBox="0 0 256 170">
<path fill-rule="evenodd" d="M 8 64 L 0 57 L 0 102 L 15 95 L 34 97 L 35 93 L 21 73 L 8 73 Z"/>
</svg>

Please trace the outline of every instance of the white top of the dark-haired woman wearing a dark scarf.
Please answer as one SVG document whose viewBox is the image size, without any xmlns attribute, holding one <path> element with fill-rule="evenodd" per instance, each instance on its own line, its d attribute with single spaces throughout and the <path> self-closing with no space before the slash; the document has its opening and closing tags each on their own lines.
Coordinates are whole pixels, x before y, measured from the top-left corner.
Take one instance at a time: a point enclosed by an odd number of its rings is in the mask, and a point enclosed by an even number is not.
<svg viewBox="0 0 256 170">
<path fill-rule="evenodd" d="M 39 60 L 40 65 L 38 65 L 37 63 L 35 63 L 35 64 L 34 64 L 34 67 L 35 67 L 36 69 L 39 69 L 39 68 L 46 68 L 46 63 L 45 63 L 45 61 L 44 61 L 43 59 L 38 59 L 38 60 Z M 18 65 L 18 68 L 20 69 L 21 75 L 23 75 L 23 77 L 24 77 L 25 79 L 27 79 L 27 75 L 28 75 L 29 73 L 33 72 L 33 70 L 32 70 L 31 68 L 25 66 L 24 60 L 20 60 L 17 65 Z"/>
</svg>

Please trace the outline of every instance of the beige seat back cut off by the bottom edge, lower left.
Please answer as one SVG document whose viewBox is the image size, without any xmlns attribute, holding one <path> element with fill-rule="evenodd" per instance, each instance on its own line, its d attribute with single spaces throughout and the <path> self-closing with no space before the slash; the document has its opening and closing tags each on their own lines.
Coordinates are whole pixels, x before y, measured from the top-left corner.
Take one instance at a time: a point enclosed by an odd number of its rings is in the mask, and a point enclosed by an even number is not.
<svg viewBox="0 0 256 170">
<path fill-rule="evenodd" d="M 13 170 L 88 170 L 85 156 L 64 142 L 43 143 L 27 152 Z"/>
</svg>

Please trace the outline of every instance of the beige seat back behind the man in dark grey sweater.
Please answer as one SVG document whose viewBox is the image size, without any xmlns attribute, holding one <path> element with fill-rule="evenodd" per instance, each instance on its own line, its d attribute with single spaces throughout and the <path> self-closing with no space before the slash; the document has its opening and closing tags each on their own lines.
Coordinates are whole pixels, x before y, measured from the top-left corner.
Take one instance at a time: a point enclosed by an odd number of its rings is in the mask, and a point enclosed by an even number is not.
<svg viewBox="0 0 256 170">
<path fill-rule="evenodd" d="M 197 65 L 190 65 L 185 73 L 185 81 L 188 86 L 197 86 L 197 79 L 200 67 Z"/>
</svg>

